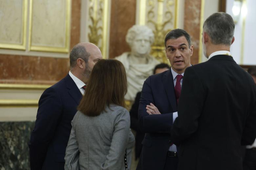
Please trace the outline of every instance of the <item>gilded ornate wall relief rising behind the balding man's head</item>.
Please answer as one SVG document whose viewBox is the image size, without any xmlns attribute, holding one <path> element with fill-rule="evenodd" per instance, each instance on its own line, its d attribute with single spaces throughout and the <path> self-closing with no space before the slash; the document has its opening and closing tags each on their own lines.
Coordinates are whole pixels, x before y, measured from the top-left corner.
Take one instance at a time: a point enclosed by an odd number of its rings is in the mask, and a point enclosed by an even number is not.
<svg viewBox="0 0 256 170">
<path fill-rule="evenodd" d="M 82 0 L 80 41 L 92 42 L 108 58 L 110 0 Z"/>
</svg>

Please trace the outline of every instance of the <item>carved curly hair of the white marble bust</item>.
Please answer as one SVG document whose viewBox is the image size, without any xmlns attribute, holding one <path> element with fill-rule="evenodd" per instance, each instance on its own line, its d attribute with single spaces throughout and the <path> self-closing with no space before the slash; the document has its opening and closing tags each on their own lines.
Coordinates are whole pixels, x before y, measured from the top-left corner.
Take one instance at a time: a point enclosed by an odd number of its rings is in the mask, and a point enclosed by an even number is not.
<svg viewBox="0 0 256 170">
<path fill-rule="evenodd" d="M 125 37 L 126 42 L 131 46 L 136 35 L 141 33 L 145 33 L 148 35 L 150 44 L 152 45 L 153 42 L 155 41 L 155 35 L 152 29 L 150 29 L 146 25 L 133 25 L 131 28 L 129 28 Z"/>
</svg>

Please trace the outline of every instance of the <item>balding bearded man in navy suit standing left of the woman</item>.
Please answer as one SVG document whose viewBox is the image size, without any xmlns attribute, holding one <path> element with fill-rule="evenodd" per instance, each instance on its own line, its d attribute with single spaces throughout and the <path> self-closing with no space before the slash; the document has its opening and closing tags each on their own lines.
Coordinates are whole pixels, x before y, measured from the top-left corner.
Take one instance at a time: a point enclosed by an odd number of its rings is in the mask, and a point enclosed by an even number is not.
<svg viewBox="0 0 256 170">
<path fill-rule="evenodd" d="M 64 169 L 71 121 L 92 68 L 100 59 L 102 55 L 96 45 L 76 44 L 70 53 L 68 75 L 41 95 L 29 142 L 31 170 Z"/>
</svg>

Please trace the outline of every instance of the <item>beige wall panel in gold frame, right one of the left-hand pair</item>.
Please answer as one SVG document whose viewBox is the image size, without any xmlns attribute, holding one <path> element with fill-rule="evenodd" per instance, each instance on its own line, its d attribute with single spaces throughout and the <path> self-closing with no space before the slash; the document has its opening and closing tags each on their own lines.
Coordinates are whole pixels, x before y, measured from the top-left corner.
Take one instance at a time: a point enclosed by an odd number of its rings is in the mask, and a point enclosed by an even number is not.
<svg viewBox="0 0 256 170">
<path fill-rule="evenodd" d="M 32 46 L 65 47 L 66 1 L 32 1 Z"/>
</svg>

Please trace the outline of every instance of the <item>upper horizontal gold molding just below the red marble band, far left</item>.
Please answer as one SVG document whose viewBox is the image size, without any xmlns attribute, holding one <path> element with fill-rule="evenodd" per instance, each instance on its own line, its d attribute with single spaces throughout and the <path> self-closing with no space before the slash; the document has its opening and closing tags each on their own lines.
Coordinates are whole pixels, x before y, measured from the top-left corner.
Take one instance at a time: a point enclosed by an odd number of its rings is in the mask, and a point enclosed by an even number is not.
<svg viewBox="0 0 256 170">
<path fill-rule="evenodd" d="M 43 85 L 43 84 L 0 84 L 1 89 L 26 89 L 26 90 L 45 90 L 52 85 Z"/>
</svg>

